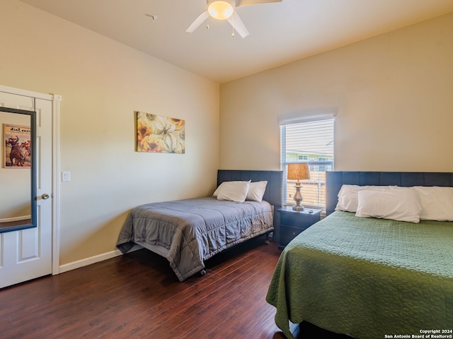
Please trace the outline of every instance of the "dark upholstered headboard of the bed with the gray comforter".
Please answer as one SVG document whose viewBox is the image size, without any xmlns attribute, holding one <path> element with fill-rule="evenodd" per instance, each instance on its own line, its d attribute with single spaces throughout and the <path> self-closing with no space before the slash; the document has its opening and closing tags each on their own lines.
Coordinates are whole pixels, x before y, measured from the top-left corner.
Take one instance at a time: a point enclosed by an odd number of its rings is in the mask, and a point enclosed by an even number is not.
<svg viewBox="0 0 453 339">
<path fill-rule="evenodd" d="M 283 194 L 283 172 L 282 171 L 249 171 L 241 169 L 219 169 L 217 171 L 217 186 L 222 182 L 231 181 L 262 182 L 267 181 L 268 185 L 263 200 L 268 201 L 275 209 L 282 207 Z"/>
</svg>

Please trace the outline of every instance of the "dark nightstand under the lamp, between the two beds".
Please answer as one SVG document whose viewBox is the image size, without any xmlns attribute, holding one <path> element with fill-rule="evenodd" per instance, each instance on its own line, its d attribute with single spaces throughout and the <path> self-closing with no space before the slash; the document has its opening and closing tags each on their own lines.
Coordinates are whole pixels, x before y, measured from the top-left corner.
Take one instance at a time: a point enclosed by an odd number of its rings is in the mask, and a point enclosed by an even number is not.
<svg viewBox="0 0 453 339">
<path fill-rule="evenodd" d="M 310 211 L 312 212 L 310 213 Z M 314 208 L 293 210 L 292 206 L 285 206 L 277 209 L 277 212 L 280 213 L 279 249 L 284 249 L 297 234 L 321 220 L 321 210 L 316 210 Z"/>
</svg>

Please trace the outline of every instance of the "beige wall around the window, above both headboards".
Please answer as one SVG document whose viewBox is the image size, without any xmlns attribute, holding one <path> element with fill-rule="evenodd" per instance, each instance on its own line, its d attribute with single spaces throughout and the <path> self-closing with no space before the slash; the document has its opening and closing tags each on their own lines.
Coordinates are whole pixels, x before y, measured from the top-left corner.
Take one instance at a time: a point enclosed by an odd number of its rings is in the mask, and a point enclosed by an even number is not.
<svg viewBox="0 0 453 339">
<path fill-rule="evenodd" d="M 221 85 L 220 167 L 280 169 L 280 114 L 336 109 L 338 170 L 453 172 L 453 13 Z"/>
</svg>

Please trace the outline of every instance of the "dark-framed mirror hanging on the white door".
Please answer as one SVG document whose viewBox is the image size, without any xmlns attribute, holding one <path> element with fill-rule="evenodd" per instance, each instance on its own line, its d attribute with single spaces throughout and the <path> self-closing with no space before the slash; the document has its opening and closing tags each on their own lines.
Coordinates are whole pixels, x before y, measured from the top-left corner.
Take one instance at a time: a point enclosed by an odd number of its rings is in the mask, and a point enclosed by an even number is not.
<svg viewBox="0 0 453 339">
<path fill-rule="evenodd" d="M 0 107 L 0 233 L 36 227 L 35 112 Z"/>
</svg>

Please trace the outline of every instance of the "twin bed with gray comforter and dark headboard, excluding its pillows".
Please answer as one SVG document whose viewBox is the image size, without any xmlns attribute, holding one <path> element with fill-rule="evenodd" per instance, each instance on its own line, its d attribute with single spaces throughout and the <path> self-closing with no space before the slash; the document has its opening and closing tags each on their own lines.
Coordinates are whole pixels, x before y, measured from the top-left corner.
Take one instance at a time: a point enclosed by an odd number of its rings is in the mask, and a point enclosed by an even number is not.
<svg viewBox="0 0 453 339">
<path fill-rule="evenodd" d="M 213 197 L 148 203 L 132 209 L 117 248 L 134 244 L 168 259 L 180 281 L 205 268 L 204 261 L 236 244 L 274 230 L 273 210 L 282 204 L 282 172 L 219 170 L 226 181 L 267 181 L 263 201 L 219 201 Z"/>
</svg>

